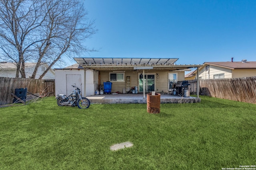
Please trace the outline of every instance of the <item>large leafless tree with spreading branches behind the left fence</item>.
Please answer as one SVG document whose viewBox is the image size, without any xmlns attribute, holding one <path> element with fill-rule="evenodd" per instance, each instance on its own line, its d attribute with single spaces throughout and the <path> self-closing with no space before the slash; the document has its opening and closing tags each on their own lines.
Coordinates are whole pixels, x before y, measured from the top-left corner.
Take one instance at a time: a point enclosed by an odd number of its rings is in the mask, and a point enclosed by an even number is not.
<svg viewBox="0 0 256 170">
<path fill-rule="evenodd" d="M 42 63 L 49 67 L 63 57 L 95 51 L 84 40 L 96 33 L 79 0 L 0 0 L 0 49 L 26 78 L 25 62 L 34 62 L 35 78 Z"/>
</svg>

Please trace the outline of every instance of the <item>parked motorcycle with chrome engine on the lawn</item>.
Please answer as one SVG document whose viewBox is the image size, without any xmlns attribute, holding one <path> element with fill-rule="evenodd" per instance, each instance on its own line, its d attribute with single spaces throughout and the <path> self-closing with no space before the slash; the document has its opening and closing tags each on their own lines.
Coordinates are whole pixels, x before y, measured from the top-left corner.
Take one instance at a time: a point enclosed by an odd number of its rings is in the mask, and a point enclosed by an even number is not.
<svg viewBox="0 0 256 170">
<path fill-rule="evenodd" d="M 90 106 L 90 100 L 81 96 L 81 90 L 73 84 L 75 88 L 68 97 L 65 94 L 56 96 L 58 106 L 77 106 L 79 109 L 87 109 Z"/>
</svg>

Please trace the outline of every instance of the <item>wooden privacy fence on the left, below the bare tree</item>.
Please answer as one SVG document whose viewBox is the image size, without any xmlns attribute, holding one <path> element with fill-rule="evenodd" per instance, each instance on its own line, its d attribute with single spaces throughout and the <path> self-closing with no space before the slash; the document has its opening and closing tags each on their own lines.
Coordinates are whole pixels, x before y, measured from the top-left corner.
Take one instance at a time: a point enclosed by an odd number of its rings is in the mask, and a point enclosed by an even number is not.
<svg viewBox="0 0 256 170">
<path fill-rule="evenodd" d="M 0 77 L 0 105 L 11 104 L 16 88 L 27 88 L 28 92 L 55 95 L 55 80 Z"/>
</svg>

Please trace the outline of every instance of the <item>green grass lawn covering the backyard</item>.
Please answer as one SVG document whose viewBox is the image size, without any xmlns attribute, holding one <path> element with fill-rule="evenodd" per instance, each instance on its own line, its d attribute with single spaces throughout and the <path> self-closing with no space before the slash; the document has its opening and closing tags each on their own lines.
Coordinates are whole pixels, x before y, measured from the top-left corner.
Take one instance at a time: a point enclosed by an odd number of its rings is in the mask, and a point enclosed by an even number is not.
<svg viewBox="0 0 256 170">
<path fill-rule="evenodd" d="M 256 105 L 200 103 L 60 107 L 49 97 L 0 108 L 0 169 L 221 170 L 256 164 Z M 131 148 L 110 146 L 130 141 Z"/>
</svg>

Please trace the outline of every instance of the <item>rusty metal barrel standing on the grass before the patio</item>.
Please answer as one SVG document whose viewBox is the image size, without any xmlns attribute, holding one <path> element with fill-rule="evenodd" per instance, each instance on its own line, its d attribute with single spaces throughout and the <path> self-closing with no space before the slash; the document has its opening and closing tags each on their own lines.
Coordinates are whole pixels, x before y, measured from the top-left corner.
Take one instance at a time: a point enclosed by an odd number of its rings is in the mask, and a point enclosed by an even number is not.
<svg viewBox="0 0 256 170">
<path fill-rule="evenodd" d="M 152 96 L 152 93 L 147 94 L 147 111 L 148 113 L 160 113 L 160 93 Z"/>
</svg>

